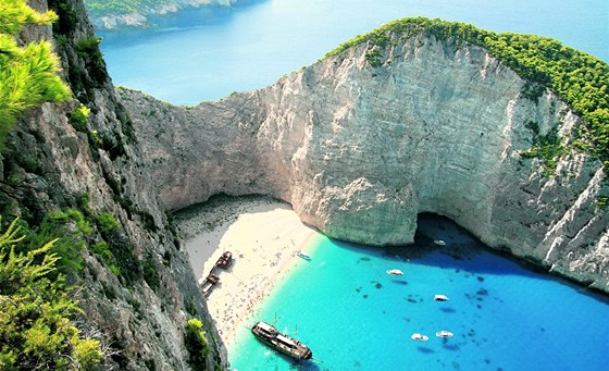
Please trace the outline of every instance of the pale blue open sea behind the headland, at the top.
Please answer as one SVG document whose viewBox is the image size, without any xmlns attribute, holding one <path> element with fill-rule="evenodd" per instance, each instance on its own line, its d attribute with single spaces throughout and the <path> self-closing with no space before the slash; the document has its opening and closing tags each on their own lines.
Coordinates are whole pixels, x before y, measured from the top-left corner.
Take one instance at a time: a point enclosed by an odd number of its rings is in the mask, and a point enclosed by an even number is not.
<svg viewBox="0 0 609 371">
<path fill-rule="evenodd" d="M 609 61 L 607 0 L 240 0 L 99 35 L 114 84 L 194 104 L 261 88 L 356 35 L 418 15 L 549 36 Z"/>
</svg>

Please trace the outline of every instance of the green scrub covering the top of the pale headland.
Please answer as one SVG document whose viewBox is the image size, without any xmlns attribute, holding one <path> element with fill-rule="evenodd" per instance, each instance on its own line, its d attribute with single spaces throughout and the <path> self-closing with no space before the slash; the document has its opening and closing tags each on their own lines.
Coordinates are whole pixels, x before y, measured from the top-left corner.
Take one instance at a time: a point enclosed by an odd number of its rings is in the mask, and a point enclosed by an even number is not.
<svg viewBox="0 0 609 371">
<path fill-rule="evenodd" d="M 585 123 L 577 133 L 576 146 L 604 161 L 609 168 L 609 65 L 604 61 L 564 47 L 559 41 L 535 35 L 496 34 L 470 24 L 428 20 L 403 18 L 390 22 L 373 32 L 358 36 L 325 58 L 368 44 L 366 58 L 372 66 L 382 65 L 381 49 L 397 38 L 410 38 L 426 33 L 439 40 L 462 42 L 487 49 L 492 55 L 529 82 L 523 96 L 540 97 L 545 88 L 555 91 Z"/>
</svg>

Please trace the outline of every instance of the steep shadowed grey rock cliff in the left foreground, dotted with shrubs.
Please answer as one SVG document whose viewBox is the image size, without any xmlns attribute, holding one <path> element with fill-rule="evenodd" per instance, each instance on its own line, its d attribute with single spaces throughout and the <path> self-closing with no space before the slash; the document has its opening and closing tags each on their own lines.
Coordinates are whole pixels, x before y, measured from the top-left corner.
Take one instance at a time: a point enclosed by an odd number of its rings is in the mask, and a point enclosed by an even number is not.
<svg viewBox="0 0 609 371">
<path fill-rule="evenodd" d="M 10 134 L 2 153 L 2 196 L 10 195 L 2 197 L 3 212 L 10 209 L 10 214 L 36 221 L 49 210 L 77 209 L 88 215 L 107 212 L 120 223 L 114 242 L 123 256 L 133 258 L 120 261 L 122 274 L 87 245 L 83 271 L 70 277 L 70 284 L 79 287 L 76 295 L 84 309 L 77 323 L 85 335 L 101 342 L 103 369 L 189 369 L 184 345 L 188 312 L 206 323 L 208 369 L 222 364 L 221 345 L 188 259 L 144 166 L 101 53 L 97 45 L 91 47 L 94 29 L 83 2 L 37 0 L 30 5 L 60 15 L 52 29 L 33 27 L 22 39 L 53 41 L 74 100 L 30 110 Z M 77 131 L 70 114 L 80 103 L 90 115 Z M 99 231 L 87 238 L 91 245 L 101 240 Z"/>
</svg>

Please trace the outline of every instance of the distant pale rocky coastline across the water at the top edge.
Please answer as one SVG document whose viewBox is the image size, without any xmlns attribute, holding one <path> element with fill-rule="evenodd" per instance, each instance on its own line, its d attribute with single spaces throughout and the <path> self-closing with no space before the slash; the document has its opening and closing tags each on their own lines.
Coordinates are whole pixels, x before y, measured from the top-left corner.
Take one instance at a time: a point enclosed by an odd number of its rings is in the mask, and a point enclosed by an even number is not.
<svg viewBox="0 0 609 371">
<path fill-rule="evenodd" d="M 85 4 L 99 1 L 87 1 Z M 208 5 L 231 7 L 236 0 L 165 0 L 156 5 L 142 7 L 134 12 L 107 13 L 99 12 L 97 8 L 90 9 L 91 22 L 97 29 L 115 29 L 121 27 L 150 26 L 150 17 L 169 15 L 183 9 Z"/>
</svg>

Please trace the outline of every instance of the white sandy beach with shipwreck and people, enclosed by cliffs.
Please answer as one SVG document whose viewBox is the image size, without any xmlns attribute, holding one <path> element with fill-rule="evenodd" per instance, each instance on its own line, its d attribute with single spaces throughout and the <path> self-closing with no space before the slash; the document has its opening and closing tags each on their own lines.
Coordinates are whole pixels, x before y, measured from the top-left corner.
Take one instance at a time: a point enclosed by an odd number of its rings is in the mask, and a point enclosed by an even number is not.
<svg viewBox="0 0 609 371">
<path fill-rule="evenodd" d="M 224 251 L 234 261 L 227 270 L 213 269 L 220 277 L 208 297 L 208 309 L 225 344 L 235 330 L 251 325 L 252 313 L 282 275 L 307 250 L 316 231 L 302 224 L 287 203 L 266 197 L 221 197 L 176 215 L 179 233 L 195 275 L 201 283 Z"/>
</svg>

